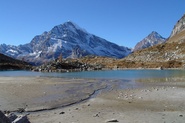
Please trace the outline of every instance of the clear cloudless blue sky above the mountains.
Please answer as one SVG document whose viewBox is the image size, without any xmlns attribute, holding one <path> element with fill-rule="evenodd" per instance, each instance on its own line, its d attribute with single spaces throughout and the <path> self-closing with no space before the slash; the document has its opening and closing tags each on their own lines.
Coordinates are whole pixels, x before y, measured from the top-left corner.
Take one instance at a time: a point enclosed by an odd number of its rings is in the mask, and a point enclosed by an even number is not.
<svg viewBox="0 0 185 123">
<path fill-rule="evenodd" d="M 89 33 L 134 47 L 152 31 L 167 38 L 185 0 L 0 0 L 0 44 L 29 43 L 71 20 Z"/>
</svg>

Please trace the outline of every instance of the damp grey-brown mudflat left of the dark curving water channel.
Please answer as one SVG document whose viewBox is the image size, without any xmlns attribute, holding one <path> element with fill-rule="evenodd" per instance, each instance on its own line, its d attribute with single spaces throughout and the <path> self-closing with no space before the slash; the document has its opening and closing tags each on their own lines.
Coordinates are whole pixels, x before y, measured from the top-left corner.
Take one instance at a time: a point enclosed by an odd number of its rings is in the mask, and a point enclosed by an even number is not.
<svg viewBox="0 0 185 123">
<path fill-rule="evenodd" d="M 0 77 L 0 109 L 35 111 L 70 105 L 105 88 L 100 81 L 47 77 Z"/>
</svg>

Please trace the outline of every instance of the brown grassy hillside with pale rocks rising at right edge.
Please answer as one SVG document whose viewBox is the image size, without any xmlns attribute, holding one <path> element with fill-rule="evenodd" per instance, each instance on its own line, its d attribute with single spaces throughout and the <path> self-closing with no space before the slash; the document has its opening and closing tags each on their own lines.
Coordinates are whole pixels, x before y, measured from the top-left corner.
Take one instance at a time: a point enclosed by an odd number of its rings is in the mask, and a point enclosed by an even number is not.
<svg viewBox="0 0 185 123">
<path fill-rule="evenodd" d="M 136 51 L 116 61 L 124 68 L 184 68 L 185 67 L 185 15 L 176 23 L 166 43 Z"/>
</svg>

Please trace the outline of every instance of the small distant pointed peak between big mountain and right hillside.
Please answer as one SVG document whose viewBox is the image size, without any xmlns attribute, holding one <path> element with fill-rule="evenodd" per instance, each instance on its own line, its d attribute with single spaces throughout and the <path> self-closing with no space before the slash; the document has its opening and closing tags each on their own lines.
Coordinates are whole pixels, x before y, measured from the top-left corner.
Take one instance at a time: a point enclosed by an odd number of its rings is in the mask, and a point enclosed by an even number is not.
<svg viewBox="0 0 185 123">
<path fill-rule="evenodd" d="M 153 31 L 146 38 L 144 38 L 143 40 L 136 44 L 136 46 L 134 47 L 134 51 L 145 49 L 157 44 L 161 44 L 164 43 L 165 41 L 166 41 L 165 38 L 163 38 L 157 32 Z"/>
</svg>

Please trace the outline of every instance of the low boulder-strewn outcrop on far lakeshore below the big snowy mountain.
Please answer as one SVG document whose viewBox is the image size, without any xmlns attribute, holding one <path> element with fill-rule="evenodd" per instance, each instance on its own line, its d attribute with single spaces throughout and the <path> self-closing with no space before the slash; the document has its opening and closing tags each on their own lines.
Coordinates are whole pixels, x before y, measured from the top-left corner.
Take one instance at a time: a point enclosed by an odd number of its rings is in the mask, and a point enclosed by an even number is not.
<svg viewBox="0 0 185 123">
<path fill-rule="evenodd" d="M 115 67 L 113 64 L 115 61 L 117 61 L 117 59 L 94 55 L 77 59 L 56 59 L 52 62 L 34 67 L 33 71 L 72 72 L 113 69 Z"/>
</svg>

